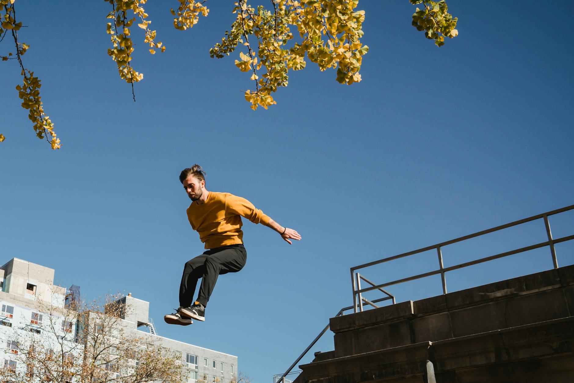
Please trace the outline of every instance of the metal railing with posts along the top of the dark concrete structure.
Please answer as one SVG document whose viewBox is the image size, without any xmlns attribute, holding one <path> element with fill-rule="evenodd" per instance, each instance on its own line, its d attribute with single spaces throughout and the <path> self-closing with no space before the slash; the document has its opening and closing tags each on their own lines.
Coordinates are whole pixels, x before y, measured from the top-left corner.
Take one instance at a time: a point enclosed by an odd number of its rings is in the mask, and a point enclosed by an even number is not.
<svg viewBox="0 0 574 383">
<path fill-rule="evenodd" d="M 387 293 L 382 288 L 384 288 L 386 286 L 401 284 L 403 282 L 413 281 L 414 279 L 430 277 L 430 275 L 437 275 L 437 274 L 441 275 L 441 282 L 443 284 L 443 294 L 446 294 L 447 293 L 447 280 L 445 277 L 445 273 L 447 273 L 448 271 L 461 269 L 461 268 L 467 267 L 467 266 L 477 265 L 478 263 L 492 261 L 493 259 L 498 259 L 498 258 L 502 258 L 504 256 L 513 255 L 513 254 L 518 254 L 519 252 L 534 250 L 536 248 L 540 248 L 540 247 L 544 247 L 544 246 L 550 247 L 550 254 L 552 255 L 552 262 L 554 265 L 554 269 L 557 269 L 558 268 L 558 260 L 556 257 L 556 250 L 554 248 L 554 244 L 565 242 L 568 240 L 572 240 L 572 239 L 574 239 L 574 235 L 568 235 L 568 236 L 564 236 L 564 237 L 558 238 L 558 239 L 552 238 L 552 232 L 550 231 L 550 223 L 548 221 L 548 217 L 552 216 L 552 215 L 559 214 L 559 213 L 567 212 L 568 210 L 572 210 L 572 209 L 574 209 L 574 205 L 565 206 L 564 208 L 561 208 L 561 209 L 552 210 L 550 212 L 542 213 L 542 214 L 539 214 L 536 216 L 532 216 L 532 217 L 528 217 L 528 218 L 525 218 L 522 220 L 507 223 L 505 225 L 500 225 L 497 227 L 493 227 L 490 229 L 486 229 L 483 231 L 479 231 L 476 233 L 465 235 L 465 236 L 462 236 L 460 238 L 451 239 L 447 242 L 437 243 L 435 245 L 423 247 L 423 248 L 420 248 L 418 250 L 409 251 L 409 252 L 405 252 L 403 254 L 398 254 L 398 255 L 394 255 L 394 256 L 389 256 L 388 258 L 379 259 L 378 261 L 373 261 L 373 262 L 369 262 L 369 263 L 364 263 L 363 265 L 351 267 L 351 285 L 352 285 L 352 290 L 353 290 L 352 308 L 354 309 L 354 312 L 357 312 L 358 308 L 360 309 L 360 311 L 363 311 L 363 301 L 366 301 L 366 300 L 365 300 L 365 298 L 362 297 L 362 293 L 366 293 L 366 292 L 369 292 L 372 290 L 381 290 L 383 293 L 390 295 L 389 293 Z M 519 224 L 534 221 L 537 219 L 544 219 L 544 225 L 546 228 L 546 235 L 548 236 L 548 241 L 533 244 L 531 246 L 518 248 L 515 250 L 511 250 L 511 251 L 502 252 L 500 254 L 486 256 L 484 258 L 476 259 L 475 261 L 461 263 L 460 265 L 455 265 L 455 266 L 450 266 L 450 267 L 444 267 L 443 266 L 443 254 L 441 251 L 441 247 L 447 246 L 449 244 L 461 242 L 461 241 L 464 241 L 467 239 L 475 238 L 475 237 L 485 235 L 488 233 L 492 233 L 495 231 L 499 231 L 502 229 L 506 229 L 509 227 L 513 227 L 513 226 L 516 226 Z M 407 278 L 397 279 L 395 281 L 387 282 L 385 284 L 380 284 L 380 285 L 375 285 L 375 284 L 373 284 L 373 282 L 367 281 L 367 279 L 364 278 L 363 275 L 360 275 L 359 273 L 355 273 L 355 270 L 364 269 L 365 267 L 369 267 L 369 266 L 379 265 L 380 263 L 384 263 L 384 262 L 394 261 L 394 259 L 404 258 L 405 256 L 414 255 L 414 254 L 418 254 L 418 253 L 425 252 L 428 250 L 433 250 L 433 249 L 436 249 L 436 251 L 437 251 L 437 256 L 438 256 L 438 260 L 439 260 L 439 269 L 438 270 L 429 271 L 428 273 L 413 275 L 413 276 L 407 277 Z M 371 285 L 371 287 L 363 288 L 363 289 L 360 288 L 360 279 L 363 279 L 363 281 L 369 283 Z M 357 302 L 357 297 L 359 298 L 359 302 Z M 388 299 L 388 297 L 383 298 L 383 299 Z M 375 301 L 373 301 L 373 302 L 375 302 Z M 393 304 L 394 303 L 395 303 L 395 301 L 393 299 Z"/>
</svg>

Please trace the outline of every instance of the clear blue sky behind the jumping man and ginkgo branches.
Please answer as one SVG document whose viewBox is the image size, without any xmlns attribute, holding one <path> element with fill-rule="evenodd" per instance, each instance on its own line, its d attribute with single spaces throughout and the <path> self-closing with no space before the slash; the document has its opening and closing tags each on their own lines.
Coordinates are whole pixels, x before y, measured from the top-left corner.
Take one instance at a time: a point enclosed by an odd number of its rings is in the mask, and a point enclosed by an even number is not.
<svg viewBox="0 0 574 383">
<path fill-rule="evenodd" d="M 574 203 L 571 4 L 448 3 L 460 35 L 437 48 L 410 25 L 408 1 L 360 1 L 363 81 L 339 85 L 308 62 L 277 105 L 253 112 L 239 51 L 208 55 L 234 20 L 231 2 L 208 2 L 210 15 L 185 32 L 172 26 L 177 1 L 148 3 L 167 50 L 149 55 L 134 29 L 144 73 L 134 103 L 106 54 L 107 3 L 18 0 L 24 62 L 63 147 L 34 137 L 17 63 L 0 63 L 2 262 L 52 267 L 88 298 L 131 292 L 150 301 L 160 335 L 238 355 L 240 370 L 269 382 L 351 304 L 351 266 Z M 205 323 L 184 328 L 162 317 L 177 307 L 184 262 L 203 252 L 177 178 L 193 163 L 208 190 L 246 197 L 303 239 L 289 246 L 245 223 L 245 269 L 219 279 Z M 550 223 L 574 232 L 574 214 Z M 445 249 L 445 264 L 545 238 L 540 223 L 509 235 Z M 574 263 L 574 245 L 557 251 L 561 266 Z M 449 289 L 552 263 L 542 249 L 494 266 L 448 275 Z M 434 267 L 429 255 L 366 275 L 382 283 Z M 392 291 L 415 300 L 440 282 Z M 312 351 L 331 350 L 331 339 Z"/>
</svg>

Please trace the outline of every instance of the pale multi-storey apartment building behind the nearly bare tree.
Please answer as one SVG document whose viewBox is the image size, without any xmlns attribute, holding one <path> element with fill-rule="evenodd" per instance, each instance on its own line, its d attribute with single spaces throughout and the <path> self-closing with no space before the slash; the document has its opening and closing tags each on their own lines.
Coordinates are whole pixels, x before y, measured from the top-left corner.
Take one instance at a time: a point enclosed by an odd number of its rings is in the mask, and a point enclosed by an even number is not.
<svg viewBox="0 0 574 383">
<path fill-rule="evenodd" d="M 69 357 L 82 357 L 84 345 L 78 334 L 85 324 L 60 315 L 60 311 L 64 312 L 79 296 L 79 288 L 55 286 L 53 278 L 53 269 L 17 258 L 0 267 L 0 363 L 5 368 L 22 371 L 26 368 L 26 363 L 22 363 L 22 347 L 28 346 L 14 340 L 24 339 L 23 336 L 41 339 L 47 348 L 65 342 Z M 236 356 L 157 335 L 149 318 L 149 302 L 131 294 L 113 304 L 123 308 L 122 331 L 132 333 L 142 341 L 159 344 L 162 353 L 165 351 L 179 359 L 182 382 L 232 383 L 235 380 Z M 18 353 L 20 358 L 17 358 Z"/>
</svg>

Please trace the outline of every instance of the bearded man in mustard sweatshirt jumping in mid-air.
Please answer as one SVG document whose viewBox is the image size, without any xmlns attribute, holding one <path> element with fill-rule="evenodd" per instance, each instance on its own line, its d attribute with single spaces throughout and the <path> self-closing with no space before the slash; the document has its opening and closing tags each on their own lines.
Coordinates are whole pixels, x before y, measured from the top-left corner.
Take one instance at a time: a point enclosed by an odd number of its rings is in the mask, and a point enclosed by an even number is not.
<svg viewBox="0 0 574 383">
<path fill-rule="evenodd" d="M 247 252 L 243 247 L 242 216 L 255 224 L 272 228 L 289 244 L 289 239 L 300 240 L 301 236 L 255 209 L 245 198 L 207 191 L 205 172 L 197 164 L 181 171 L 180 182 L 192 200 L 187 208 L 187 218 L 207 250 L 185 263 L 180 285 L 180 308 L 166 315 L 164 320 L 169 324 L 188 325 L 193 323 L 192 318 L 205 320 L 205 307 L 218 276 L 236 273 L 245 266 Z M 199 294 L 193 301 L 199 278 Z"/>
</svg>

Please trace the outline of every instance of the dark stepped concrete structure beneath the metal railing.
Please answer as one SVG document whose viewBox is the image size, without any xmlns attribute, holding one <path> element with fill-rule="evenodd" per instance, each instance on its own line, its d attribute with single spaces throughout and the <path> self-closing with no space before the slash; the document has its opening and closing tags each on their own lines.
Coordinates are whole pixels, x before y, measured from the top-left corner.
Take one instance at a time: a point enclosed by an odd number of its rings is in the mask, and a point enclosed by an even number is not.
<svg viewBox="0 0 574 383">
<path fill-rule="evenodd" d="M 574 266 L 332 318 L 296 383 L 574 381 Z"/>
</svg>

